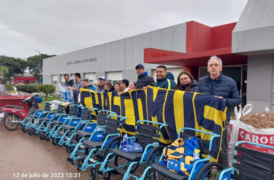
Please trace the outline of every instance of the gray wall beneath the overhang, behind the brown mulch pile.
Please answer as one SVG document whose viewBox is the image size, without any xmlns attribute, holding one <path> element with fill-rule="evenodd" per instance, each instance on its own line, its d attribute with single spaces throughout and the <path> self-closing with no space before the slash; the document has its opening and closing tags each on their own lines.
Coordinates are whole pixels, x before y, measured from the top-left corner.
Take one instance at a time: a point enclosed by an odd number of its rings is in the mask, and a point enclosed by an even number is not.
<svg viewBox="0 0 274 180">
<path fill-rule="evenodd" d="M 248 56 L 247 103 L 252 104 L 252 112 L 274 110 L 273 63 L 273 54 Z"/>
</svg>

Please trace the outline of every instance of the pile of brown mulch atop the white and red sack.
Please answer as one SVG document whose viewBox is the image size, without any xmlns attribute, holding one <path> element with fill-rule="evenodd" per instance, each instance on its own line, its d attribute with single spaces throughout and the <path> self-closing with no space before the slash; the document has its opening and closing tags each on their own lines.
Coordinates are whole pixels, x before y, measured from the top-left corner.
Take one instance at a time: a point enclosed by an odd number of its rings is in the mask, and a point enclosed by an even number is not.
<svg viewBox="0 0 274 180">
<path fill-rule="evenodd" d="M 236 120 L 236 117 L 231 116 L 231 119 Z M 274 128 L 274 112 L 269 111 L 241 116 L 240 121 L 256 129 Z"/>
</svg>

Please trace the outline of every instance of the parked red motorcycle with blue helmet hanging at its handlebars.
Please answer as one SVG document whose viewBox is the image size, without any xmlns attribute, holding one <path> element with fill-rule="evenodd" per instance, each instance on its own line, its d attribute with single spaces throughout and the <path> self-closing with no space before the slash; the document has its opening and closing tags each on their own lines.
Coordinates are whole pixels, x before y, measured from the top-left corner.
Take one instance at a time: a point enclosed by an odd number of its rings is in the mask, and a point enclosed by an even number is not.
<svg viewBox="0 0 274 180">
<path fill-rule="evenodd" d="M 38 103 L 42 102 L 42 97 L 39 95 L 34 95 L 24 99 L 22 103 L 28 103 L 30 107 L 29 112 L 26 112 L 25 107 L 23 106 L 13 106 L 5 105 L 0 107 L 0 121 L 4 119 L 4 126 L 8 130 L 15 130 L 19 124 L 28 116 L 33 115 L 36 110 L 40 109 Z"/>
</svg>

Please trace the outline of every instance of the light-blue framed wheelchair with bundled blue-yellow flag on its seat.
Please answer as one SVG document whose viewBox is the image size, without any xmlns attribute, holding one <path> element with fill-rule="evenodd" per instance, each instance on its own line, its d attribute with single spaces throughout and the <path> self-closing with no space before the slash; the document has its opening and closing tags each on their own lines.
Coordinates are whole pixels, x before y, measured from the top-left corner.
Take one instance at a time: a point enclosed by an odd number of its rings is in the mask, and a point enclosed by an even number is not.
<svg viewBox="0 0 274 180">
<path fill-rule="evenodd" d="M 172 171 L 169 171 L 169 169 L 162 165 L 159 164 L 158 162 L 163 160 L 163 153 L 160 157 L 160 159 L 149 166 L 148 168 L 145 169 L 142 177 L 140 179 L 148 179 L 147 175 L 149 174 L 150 177 L 149 179 L 172 179 L 172 180 L 200 180 L 200 179 L 215 179 L 218 173 L 223 169 L 221 164 L 217 162 L 209 162 L 210 160 L 210 151 L 211 151 L 211 146 L 212 146 L 212 141 L 216 137 L 220 137 L 220 135 L 215 134 L 215 133 L 209 133 L 193 128 L 181 128 L 178 131 L 178 138 L 182 139 L 189 139 L 191 136 L 182 133 L 183 130 L 192 130 L 192 131 L 197 131 L 205 134 L 210 134 L 212 137 L 210 140 L 203 140 L 201 138 L 197 138 L 199 142 L 199 147 L 200 147 L 200 160 L 196 160 L 193 164 L 193 168 L 191 169 L 191 172 L 188 175 L 183 175 L 180 173 L 174 173 Z M 206 148 L 208 147 L 208 148 Z M 207 155 L 207 158 L 202 159 L 201 154 Z M 206 164 L 205 164 L 206 163 Z M 151 177 L 152 176 L 152 177 Z"/>
</svg>

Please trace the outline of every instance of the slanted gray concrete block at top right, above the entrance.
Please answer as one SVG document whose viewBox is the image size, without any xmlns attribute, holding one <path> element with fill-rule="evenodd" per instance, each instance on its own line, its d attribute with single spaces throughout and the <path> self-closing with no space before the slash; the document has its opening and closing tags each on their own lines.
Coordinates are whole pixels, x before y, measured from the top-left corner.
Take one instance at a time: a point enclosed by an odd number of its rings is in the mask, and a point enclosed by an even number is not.
<svg viewBox="0 0 274 180">
<path fill-rule="evenodd" d="M 232 53 L 274 53 L 274 1 L 249 0 L 232 32 Z"/>
</svg>

